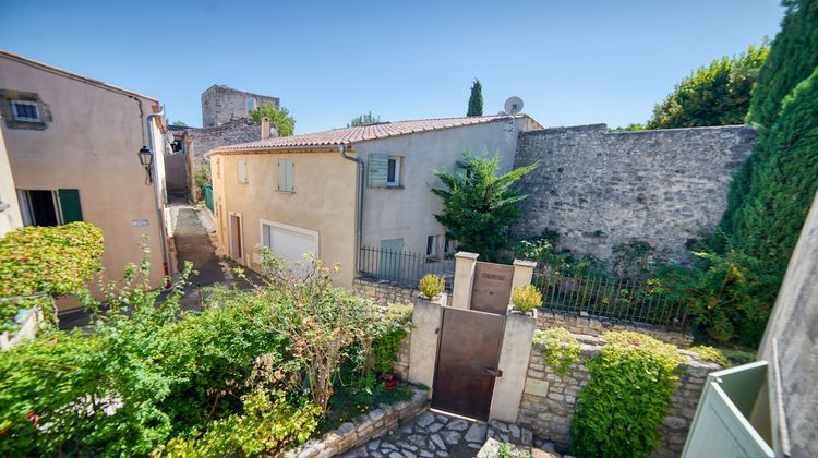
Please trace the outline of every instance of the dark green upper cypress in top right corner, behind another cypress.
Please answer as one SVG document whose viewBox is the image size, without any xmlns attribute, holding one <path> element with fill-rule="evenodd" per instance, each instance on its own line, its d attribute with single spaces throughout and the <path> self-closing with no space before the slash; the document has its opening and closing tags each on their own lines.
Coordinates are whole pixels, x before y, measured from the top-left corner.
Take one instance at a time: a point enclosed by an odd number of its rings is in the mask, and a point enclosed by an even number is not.
<svg viewBox="0 0 818 458">
<path fill-rule="evenodd" d="M 818 65 L 818 1 L 783 0 L 781 32 L 753 88 L 748 122 L 769 126 L 781 103 Z"/>
</svg>

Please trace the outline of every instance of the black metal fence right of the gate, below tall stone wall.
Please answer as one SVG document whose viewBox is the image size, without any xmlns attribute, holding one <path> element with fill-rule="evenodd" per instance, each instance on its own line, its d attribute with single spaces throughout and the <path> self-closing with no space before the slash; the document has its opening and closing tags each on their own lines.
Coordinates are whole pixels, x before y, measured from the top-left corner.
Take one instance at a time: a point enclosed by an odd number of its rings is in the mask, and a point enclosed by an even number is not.
<svg viewBox="0 0 818 458">
<path fill-rule="evenodd" d="M 546 310 L 684 328 L 687 308 L 653 291 L 647 281 L 555 272 L 545 266 L 532 281 Z"/>
</svg>

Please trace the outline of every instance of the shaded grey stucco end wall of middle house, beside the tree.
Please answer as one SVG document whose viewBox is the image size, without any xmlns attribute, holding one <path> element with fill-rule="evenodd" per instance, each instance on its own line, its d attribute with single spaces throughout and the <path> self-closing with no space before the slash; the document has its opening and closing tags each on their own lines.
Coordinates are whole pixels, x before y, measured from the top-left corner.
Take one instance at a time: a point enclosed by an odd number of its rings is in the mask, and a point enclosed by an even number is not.
<svg viewBox="0 0 818 458">
<path fill-rule="evenodd" d="M 383 153 L 404 158 L 399 189 L 365 188 L 363 244 L 380 248 L 382 240 L 404 239 L 404 251 L 425 253 L 426 238 L 438 238 L 443 252 L 445 230 L 434 218 L 442 210 L 440 197 L 430 189 L 442 183 L 432 172 L 455 170 L 465 149 L 472 155 L 500 156 L 500 172 L 512 170 L 520 131 L 537 125 L 527 117 L 462 128 L 442 129 L 411 135 L 361 142 L 358 156 Z"/>
</svg>

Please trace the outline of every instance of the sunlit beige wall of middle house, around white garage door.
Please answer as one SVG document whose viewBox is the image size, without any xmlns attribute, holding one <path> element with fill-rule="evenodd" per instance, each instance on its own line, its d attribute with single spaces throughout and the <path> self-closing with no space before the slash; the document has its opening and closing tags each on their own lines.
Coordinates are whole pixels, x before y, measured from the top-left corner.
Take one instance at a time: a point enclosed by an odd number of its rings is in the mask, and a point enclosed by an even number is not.
<svg viewBox="0 0 818 458">
<path fill-rule="evenodd" d="M 238 160 L 246 160 L 248 183 L 239 183 Z M 293 160 L 293 193 L 278 190 L 278 160 Z M 241 214 L 244 224 L 241 264 L 258 269 L 261 219 L 318 232 L 318 257 L 341 265 L 337 286 L 351 287 L 354 277 L 354 162 L 338 150 L 264 154 L 214 154 L 210 157 L 217 233 L 229 253 L 228 216 Z"/>
</svg>

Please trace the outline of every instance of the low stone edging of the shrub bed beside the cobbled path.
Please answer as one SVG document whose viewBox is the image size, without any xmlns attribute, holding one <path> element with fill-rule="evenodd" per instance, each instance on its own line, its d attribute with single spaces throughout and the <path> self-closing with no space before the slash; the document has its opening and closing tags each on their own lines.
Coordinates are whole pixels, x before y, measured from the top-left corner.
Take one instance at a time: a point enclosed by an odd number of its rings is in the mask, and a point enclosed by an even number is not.
<svg viewBox="0 0 818 458">
<path fill-rule="evenodd" d="M 412 398 L 392 406 L 380 405 L 377 409 L 358 415 L 352 421 L 313 439 L 294 450 L 281 454 L 286 458 L 334 457 L 346 450 L 383 436 L 429 408 L 426 391 L 416 389 Z"/>
</svg>

